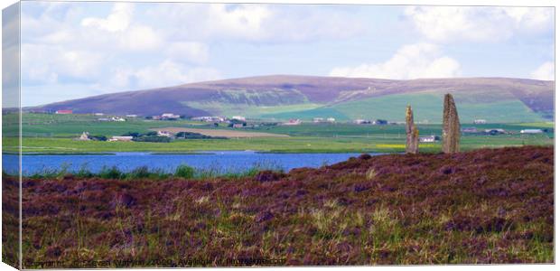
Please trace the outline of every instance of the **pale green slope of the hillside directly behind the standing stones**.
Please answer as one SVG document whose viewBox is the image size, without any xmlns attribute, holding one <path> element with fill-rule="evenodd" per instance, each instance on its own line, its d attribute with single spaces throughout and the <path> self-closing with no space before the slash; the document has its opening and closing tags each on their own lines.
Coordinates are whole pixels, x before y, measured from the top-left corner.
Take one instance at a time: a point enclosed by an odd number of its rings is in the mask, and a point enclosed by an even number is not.
<svg viewBox="0 0 560 271">
<path fill-rule="evenodd" d="M 457 110 L 459 111 L 459 116 L 465 123 L 472 122 L 477 118 L 501 123 L 543 121 L 543 117 L 514 98 L 495 102 L 491 101 L 491 99 L 475 100 L 468 95 L 458 93 L 455 94 L 455 100 L 458 102 Z M 262 117 L 275 117 L 279 119 L 302 118 L 306 120 L 311 120 L 313 117 L 336 117 L 337 120 L 341 121 L 357 118 L 381 118 L 390 121 L 404 121 L 404 108 L 406 108 L 407 104 L 414 108 L 416 121 L 428 123 L 442 122 L 443 96 L 432 92 L 364 98 L 309 110 L 265 114 Z"/>
</svg>

